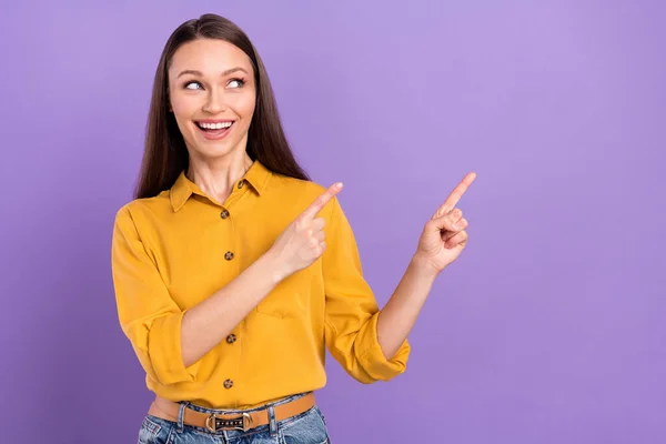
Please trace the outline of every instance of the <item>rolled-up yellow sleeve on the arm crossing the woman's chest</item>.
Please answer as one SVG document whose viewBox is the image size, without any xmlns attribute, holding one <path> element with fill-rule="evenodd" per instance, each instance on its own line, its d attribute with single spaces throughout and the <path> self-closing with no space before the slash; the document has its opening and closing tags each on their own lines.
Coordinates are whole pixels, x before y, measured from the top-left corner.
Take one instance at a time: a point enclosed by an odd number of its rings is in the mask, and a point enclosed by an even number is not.
<svg viewBox="0 0 666 444">
<path fill-rule="evenodd" d="M 162 385 L 194 381 L 199 362 L 185 367 L 181 351 L 185 311 L 169 294 L 128 206 L 115 216 L 111 265 L 120 325 L 148 376 Z"/>
</svg>

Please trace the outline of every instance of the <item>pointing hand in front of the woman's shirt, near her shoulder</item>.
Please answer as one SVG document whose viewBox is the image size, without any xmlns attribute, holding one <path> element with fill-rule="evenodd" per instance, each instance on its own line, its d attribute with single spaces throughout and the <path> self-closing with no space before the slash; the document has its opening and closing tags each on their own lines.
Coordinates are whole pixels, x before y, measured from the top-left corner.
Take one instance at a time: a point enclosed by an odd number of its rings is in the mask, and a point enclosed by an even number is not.
<svg viewBox="0 0 666 444">
<path fill-rule="evenodd" d="M 269 254 L 276 264 L 279 281 L 314 263 L 326 249 L 324 219 L 314 216 L 342 190 L 337 182 L 301 213 L 273 243 Z"/>
</svg>

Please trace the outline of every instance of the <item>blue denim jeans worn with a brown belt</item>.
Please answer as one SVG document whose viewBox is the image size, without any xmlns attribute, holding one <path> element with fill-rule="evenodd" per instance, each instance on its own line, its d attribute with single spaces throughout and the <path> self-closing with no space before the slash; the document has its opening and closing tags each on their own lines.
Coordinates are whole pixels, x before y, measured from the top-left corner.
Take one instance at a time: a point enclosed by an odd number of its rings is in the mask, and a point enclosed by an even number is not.
<svg viewBox="0 0 666 444">
<path fill-rule="evenodd" d="M 326 423 L 317 405 L 296 416 L 275 421 L 273 411 L 275 405 L 303 395 L 289 396 L 275 403 L 246 411 L 221 411 L 204 408 L 193 404 L 188 405 L 188 408 L 211 414 L 242 414 L 243 412 L 266 408 L 270 424 L 260 425 L 248 432 L 219 431 L 211 433 L 203 427 L 183 424 L 182 415 L 178 422 L 147 415 L 139 431 L 139 444 L 329 444 Z"/>
</svg>

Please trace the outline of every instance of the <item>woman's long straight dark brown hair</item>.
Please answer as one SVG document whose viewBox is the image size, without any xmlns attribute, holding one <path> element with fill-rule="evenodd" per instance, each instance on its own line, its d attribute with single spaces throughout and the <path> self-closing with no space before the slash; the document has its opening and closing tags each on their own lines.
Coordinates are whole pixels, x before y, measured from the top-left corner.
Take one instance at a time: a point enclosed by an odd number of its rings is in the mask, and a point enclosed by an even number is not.
<svg viewBox="0 0 666 444">
<path fill-rule="evenodd" d="M 169 111 L 169 65 L 175 51 L 196 39 L 220 39 L 241 49 L 254 69 L 256 104 L 248 132 L 248 155 L 269 170 L 286 176 L 310 180 L 291 151 L 273 94 L 273 88 L 259 53 L 248 36 L 230 20 L 203 14 L 184 22 L 169 37 L 153 82 L 148 115 L 145 149 L 134 198 L 152 198 L 169 190 L 189 167 L 188 149 L 174 115 Z"/>
</svg>

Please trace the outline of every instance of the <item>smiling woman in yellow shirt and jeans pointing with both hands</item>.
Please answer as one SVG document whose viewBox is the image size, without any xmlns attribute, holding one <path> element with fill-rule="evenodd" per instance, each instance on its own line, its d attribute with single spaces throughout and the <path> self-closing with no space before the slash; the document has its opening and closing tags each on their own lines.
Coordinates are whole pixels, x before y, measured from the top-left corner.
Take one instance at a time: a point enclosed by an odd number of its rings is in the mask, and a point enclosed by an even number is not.
<svg viewBox="0 0 666 444">
<path fill-rule="evenodd" d="M 294 160 L 248 37 L 214 14 L 180 26 L 113 232 L 120 323 L 155 393 L 139 442 L 329 442 L 313 395 L 325 347 L 363 383 L 404 372 L 431 285 L 466 244 L 454 206 L 473 180 L 426 223 L 380 311 L 342 184 L 311 182 Z"/>
</svg>

